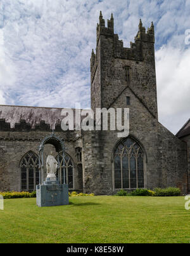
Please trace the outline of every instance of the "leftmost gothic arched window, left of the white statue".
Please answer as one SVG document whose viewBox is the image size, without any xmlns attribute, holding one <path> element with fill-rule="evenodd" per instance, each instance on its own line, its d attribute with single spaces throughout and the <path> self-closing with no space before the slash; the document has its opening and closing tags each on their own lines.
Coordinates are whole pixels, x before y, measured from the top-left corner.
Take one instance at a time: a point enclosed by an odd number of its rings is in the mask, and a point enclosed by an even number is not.
<svg viewBox="0 0 190 256">
<path fill-rule="evenodd" d="M 32 151 L 27 152 L 20 161 L 21 190 L 35 191 L 39 184 L 39 158 Z"/>
</svg>

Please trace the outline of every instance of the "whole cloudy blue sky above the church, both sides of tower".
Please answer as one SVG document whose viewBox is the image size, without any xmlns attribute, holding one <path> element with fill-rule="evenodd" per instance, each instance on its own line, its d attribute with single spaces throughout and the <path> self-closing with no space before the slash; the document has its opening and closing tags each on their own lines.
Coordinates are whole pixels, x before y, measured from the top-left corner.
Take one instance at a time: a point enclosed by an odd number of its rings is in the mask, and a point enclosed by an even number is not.
<svg viewBox="0 0 190 256">
<path fill-rule="evenodd" d="M 190 118 L 190 0 L 0 0 L 0 104 L 89 108 L 100 10 L 125 47 L 139 18 L 154 22 L 159 121 L 176 133 Z"/>
</svg>

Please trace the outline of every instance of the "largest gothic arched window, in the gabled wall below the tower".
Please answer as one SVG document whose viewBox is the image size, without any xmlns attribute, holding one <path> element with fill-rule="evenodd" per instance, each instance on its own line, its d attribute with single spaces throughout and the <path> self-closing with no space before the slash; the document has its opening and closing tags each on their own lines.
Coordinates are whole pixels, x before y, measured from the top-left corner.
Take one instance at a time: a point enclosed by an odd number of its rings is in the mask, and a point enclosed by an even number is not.
<svg viewBox="0 0 190 256">
<path fill-rule="evenodd" d="M 118 144 L 114 155 L 115 189 L 144 187 L 144 154 L 141 146 L 127 137 Z"/>
</svg>

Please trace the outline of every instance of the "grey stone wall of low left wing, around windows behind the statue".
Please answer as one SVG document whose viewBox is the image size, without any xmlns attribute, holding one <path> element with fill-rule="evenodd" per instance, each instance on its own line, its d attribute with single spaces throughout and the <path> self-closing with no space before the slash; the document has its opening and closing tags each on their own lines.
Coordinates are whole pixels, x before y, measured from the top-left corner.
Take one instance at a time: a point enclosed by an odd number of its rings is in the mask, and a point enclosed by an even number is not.
<svg viewBox="0 0 190 256">
<path fill-rule="evenodd" d="M 49 135 L 46 131 L 30 131 L 30 132 L 0 132 L 0 191 L 20 191 L 21 177 L 20 177 L 20 161 L 22 157 L 28 152 L 33 151 L 38 155 L 39 144 L 42 138 Z M 75 191 L 82 191 L 82 172 L 77 165 L 75 155 L 75 143 L 79 145 L 80 138 L 76 139 L 75 134 L 70 132 L 70 137 L 67 133 L 56 133 L 65 140 L 66 154 L 68 154 L 73 161 L 73 180 Z M 53 145 L 46 145 L 44 148 L 44 160 L 47 155 L 53 151 L 54 156 L 57 155 Z M 44 179 L 46 173 L 44 173 Z"/>
</svg>

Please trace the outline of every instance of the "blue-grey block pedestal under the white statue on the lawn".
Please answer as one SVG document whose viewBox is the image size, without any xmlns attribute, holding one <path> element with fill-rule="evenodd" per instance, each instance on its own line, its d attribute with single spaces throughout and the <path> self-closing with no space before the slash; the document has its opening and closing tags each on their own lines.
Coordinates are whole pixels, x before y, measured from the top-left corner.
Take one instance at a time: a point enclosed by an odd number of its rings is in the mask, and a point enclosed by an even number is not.
<svg viewBox="0 0 190 256">
<path fill-rule="evenodd" d="M 68 205 L 68 185 L 59 184 L 58 178 L 46 178 L 36 186 L 36 204 L 42 206 Z"/>
</svg>

